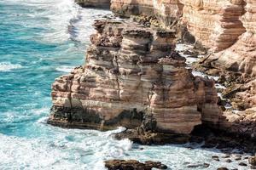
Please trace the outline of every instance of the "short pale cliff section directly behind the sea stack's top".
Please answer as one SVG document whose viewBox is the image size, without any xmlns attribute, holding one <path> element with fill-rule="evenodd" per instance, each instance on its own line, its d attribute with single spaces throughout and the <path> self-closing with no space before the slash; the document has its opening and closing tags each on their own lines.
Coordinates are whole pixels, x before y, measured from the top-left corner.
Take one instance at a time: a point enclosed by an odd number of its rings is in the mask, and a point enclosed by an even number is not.
<svg viewBox="0 0 256 170">
<path fill-rule="evenodd" d="M 111 9 L 119 16 L 131 14 L 155 15 L 166 26 L 182 15 L 183 4 L 178 0 L 112 0 Z"/>
</svg>

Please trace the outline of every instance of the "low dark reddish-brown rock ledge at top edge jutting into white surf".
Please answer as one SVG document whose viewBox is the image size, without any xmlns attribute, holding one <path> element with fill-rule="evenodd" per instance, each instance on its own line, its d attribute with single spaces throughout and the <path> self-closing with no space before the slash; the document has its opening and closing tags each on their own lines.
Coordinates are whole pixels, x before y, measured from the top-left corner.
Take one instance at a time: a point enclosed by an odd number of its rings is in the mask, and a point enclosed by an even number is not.
<svg viewBox="0 0 256 170">
<path fill-rule="evenodd" d="M 110 8 L 110 0 L 75 0 L 82 7 Z"/>
</svg>

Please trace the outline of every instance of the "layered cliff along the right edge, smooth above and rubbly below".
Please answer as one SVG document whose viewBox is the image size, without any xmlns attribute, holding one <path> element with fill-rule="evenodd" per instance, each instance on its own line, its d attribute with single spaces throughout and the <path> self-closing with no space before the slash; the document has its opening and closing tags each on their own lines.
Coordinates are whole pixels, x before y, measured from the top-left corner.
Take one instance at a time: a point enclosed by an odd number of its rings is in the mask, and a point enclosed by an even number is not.
<svg viewBox="0 0 256 170">
<path fill-rule="evenodd" d="M 246 32 L 230 48 L 211 54 L 203 65 L 223 72 L 230 90 L 224 97 L 238 111 L 237 114 L 225 111 L 219 128 L 256 139 L 256 1 L 245 2 L 246 13 L 241 22 Z"/>
</svg>

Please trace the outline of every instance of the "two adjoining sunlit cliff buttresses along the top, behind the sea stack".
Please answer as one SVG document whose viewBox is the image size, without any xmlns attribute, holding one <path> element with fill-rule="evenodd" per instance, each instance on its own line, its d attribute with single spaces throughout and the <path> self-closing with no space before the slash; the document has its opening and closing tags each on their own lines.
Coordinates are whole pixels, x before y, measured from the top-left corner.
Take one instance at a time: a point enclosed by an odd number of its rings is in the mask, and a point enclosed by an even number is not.
<svg viewBox="0 0 256 170">
<path fill-rule="evenodd" d="M 183 20 L 197 42 L 218 52 L 229 48 L 245 31 L 239 20 L 244 4 L 242 0 L 112 0 L 111 8 L 121 16 L 156 15 L 166 26 Z"/>
</svg>

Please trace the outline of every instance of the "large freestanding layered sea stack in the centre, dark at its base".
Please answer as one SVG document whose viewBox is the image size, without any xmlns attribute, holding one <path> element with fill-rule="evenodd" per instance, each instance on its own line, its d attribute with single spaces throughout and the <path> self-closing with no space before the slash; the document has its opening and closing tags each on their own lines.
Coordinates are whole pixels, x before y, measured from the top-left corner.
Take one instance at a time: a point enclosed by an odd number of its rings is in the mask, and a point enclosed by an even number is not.
<svg viewBox="0 0 256 170">
<path fill-rule="evenodd" d="M 190 133 L 218 122 L 214 82 L 193 77 L 174 52 L 175 36 L 131 22 L 98 20 L 83 67 L 52 86 L 49 123 Z"/>
</svg>

